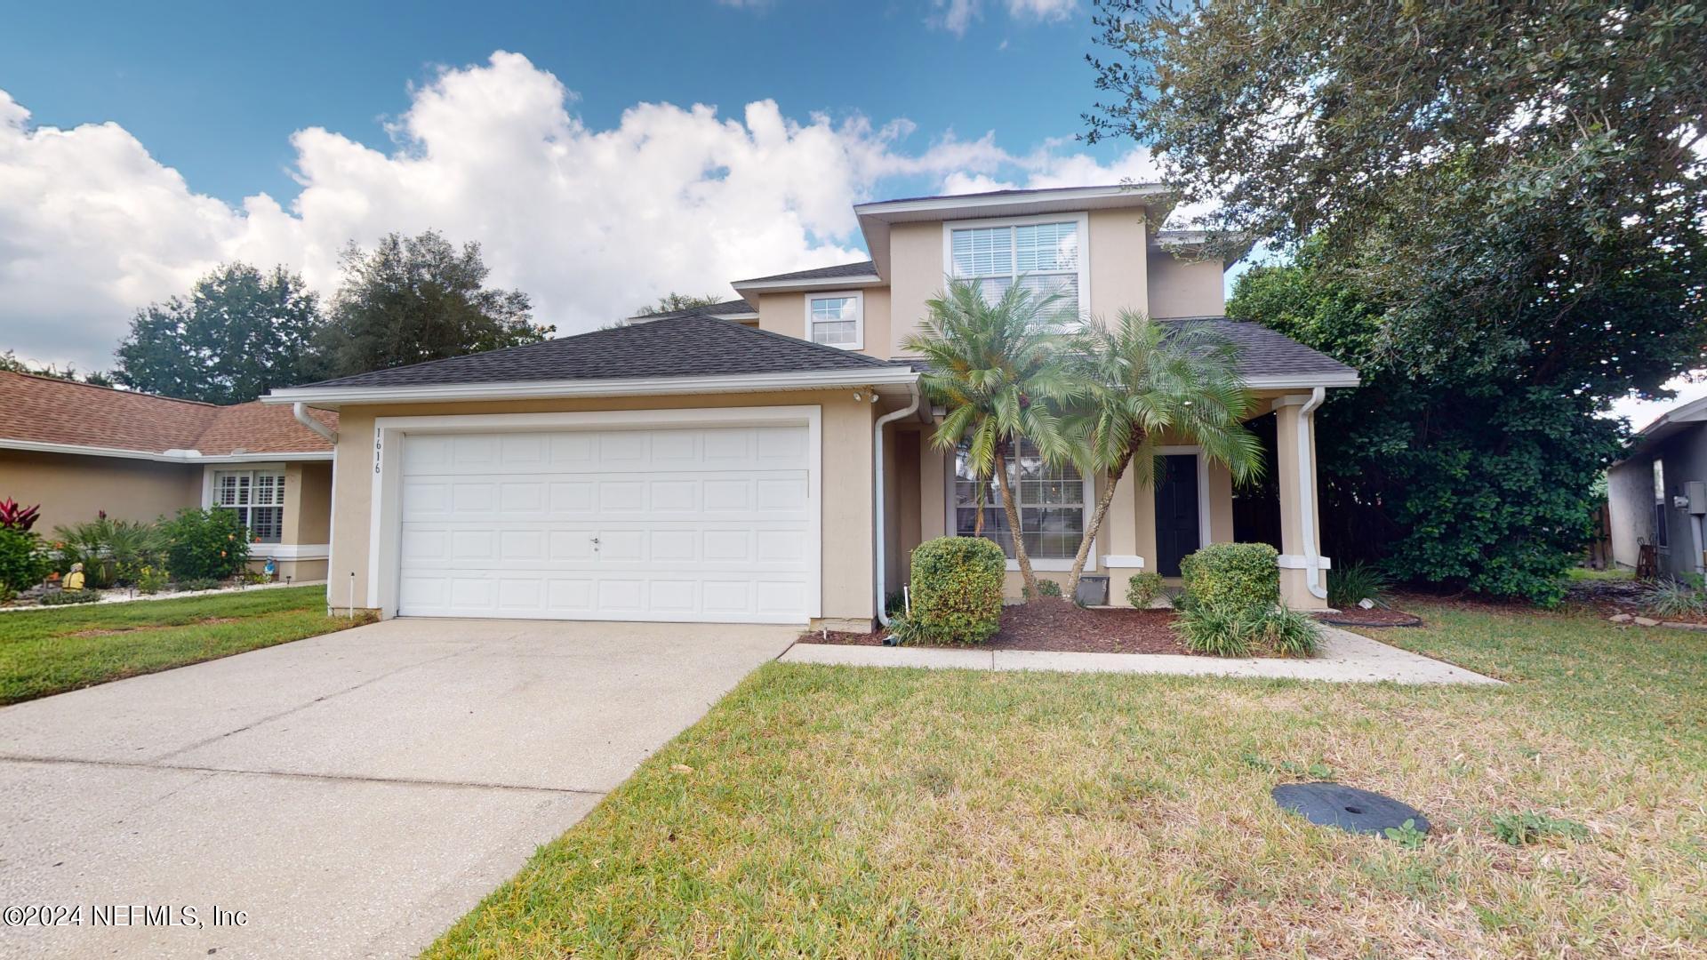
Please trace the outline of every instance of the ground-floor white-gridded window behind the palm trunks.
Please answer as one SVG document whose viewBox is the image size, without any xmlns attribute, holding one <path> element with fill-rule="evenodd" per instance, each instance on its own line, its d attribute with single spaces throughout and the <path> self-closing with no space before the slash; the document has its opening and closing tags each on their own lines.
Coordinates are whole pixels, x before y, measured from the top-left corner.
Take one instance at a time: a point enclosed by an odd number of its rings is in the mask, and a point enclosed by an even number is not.
<svg viewBox="0 0 1707 960">
<path fill-rule="evenodd" d="M 1079 552 L 1086 521 L 1086 482 L 1072 465 L 1050 466 L 1036 448 L 1021 441 L 1019 456 L 1007 463 L 1009 489 L 1019 495 L 1019 528 L 1033 560 L 1070 560 Z M 978 489 L 983 489 L 983 536 L 1014 559 L 1014 535 L 1002 509 L 995 478 L 978 482 L 966 446 L 954 453 L 954 533 L 973 536 L 978 524 Z"/>
</svg>

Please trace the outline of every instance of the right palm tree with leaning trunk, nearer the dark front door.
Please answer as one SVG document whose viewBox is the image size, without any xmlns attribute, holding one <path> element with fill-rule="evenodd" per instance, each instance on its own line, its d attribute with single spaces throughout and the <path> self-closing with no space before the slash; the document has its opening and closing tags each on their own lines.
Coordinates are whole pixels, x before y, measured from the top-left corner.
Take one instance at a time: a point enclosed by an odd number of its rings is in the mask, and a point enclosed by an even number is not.
<svg viewBox="0 0 1707 960">
<path fill-rule="evenodd" d="M 1077 413 L 1086 437 L 1081 468 L 1106 471 L 1108 482 L 1079 541 L 1067 596 L 1079 588 L 1115 485 L 1128 468 L 1139 485 L 1151 485 L 1164 441 L 1200 446 L 1239 483 L 1263 466 L 1261 444 L 1244 427 L 1255 401 L 1239 376 L 1238 348 L 1212 326 L 1121 311 L 1113 328 L 1091 323 L 1074 354 L 1087 395 Z"/>
</svg>

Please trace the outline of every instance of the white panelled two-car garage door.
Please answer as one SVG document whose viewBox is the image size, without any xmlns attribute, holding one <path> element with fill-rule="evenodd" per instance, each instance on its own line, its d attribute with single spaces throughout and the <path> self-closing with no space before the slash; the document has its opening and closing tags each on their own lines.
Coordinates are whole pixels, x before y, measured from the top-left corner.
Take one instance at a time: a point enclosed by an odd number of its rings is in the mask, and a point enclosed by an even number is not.
<svg viewBox="0 0 1707 960">
<path fill-rule="evenodd" d="M 398 613 L 804 623 L 804 425 L 408 434 Z"/>
</svg>

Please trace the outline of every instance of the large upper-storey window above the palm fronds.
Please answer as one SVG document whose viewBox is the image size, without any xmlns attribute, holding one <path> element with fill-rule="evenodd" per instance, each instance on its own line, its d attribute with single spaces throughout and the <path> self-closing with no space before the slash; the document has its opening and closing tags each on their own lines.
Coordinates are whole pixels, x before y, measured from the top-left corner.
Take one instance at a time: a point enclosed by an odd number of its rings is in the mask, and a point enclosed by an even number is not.
<svg viewBox="0 0 1707 960">
<path fill-rule="evenodd" d="M 1084 220 L 1012 220 L 947 225 L 947 275 L 976 280 L 992 304 L 1016 278 L 1053 309 L 1077 316 L 1086 284 L 1081 244 Z"/>
</svg>

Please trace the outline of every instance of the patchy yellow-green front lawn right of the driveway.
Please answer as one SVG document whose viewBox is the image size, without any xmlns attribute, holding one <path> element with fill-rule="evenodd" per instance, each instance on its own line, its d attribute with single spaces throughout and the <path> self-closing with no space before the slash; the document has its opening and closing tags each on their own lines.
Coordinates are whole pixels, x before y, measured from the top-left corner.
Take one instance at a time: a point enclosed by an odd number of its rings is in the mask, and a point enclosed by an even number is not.
<svg viewBox="0 0 1707 960">
<path fill-rule="evenodd" d="M 1707 639 L 1419 612 L 1511 687 L 768 664 L 427 955 L 1707 953 Z M 1323 767 L 1436 834 L 1270 803 Z"/>
</svg>

